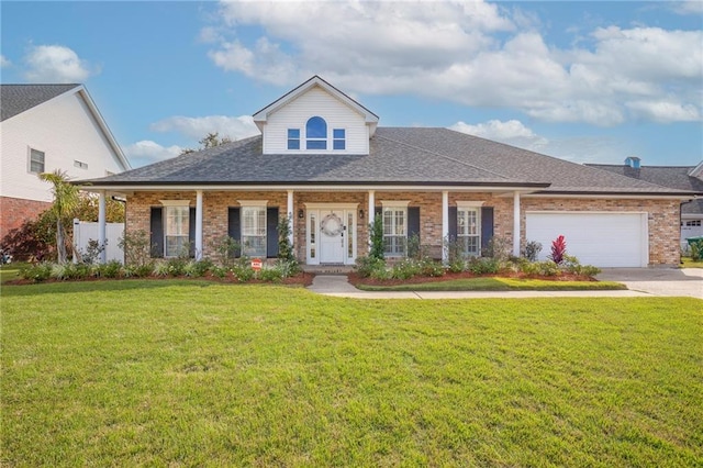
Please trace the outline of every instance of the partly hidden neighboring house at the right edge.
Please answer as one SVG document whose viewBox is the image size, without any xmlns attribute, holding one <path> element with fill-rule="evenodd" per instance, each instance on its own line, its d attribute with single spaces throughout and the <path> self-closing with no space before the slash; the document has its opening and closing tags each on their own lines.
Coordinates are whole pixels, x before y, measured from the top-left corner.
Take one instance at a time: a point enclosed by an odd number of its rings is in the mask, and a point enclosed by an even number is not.
<svg viewBox="0 0 703 468">
<path fill-rule="evenodd" d="M 681 204 L 681 219 L 677 220 L 677 224 L 681 225 L 681 248 L 688 247 L 688 237 L 703 236 L 703 161 L 698 166 L 643 166 L 638 157 L 632 156 L 625 159 L 624 165 L 587 166 L 671 189 L 698 192 L 700 198 Z"/>
</svg>

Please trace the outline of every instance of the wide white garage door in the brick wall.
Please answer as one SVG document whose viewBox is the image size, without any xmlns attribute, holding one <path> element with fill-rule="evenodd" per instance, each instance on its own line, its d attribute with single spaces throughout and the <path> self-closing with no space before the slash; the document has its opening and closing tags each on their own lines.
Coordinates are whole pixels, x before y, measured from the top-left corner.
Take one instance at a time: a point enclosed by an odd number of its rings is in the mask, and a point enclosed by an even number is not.
<svg viewBox="0 0 703 468">
<path fill-rule="evenodd" d="M 542 244 L 540 259 L 563 235 L 567 254 L 582 265 L 646 267 L 649 261 L 646 213 L 527 212 L 527 241 Z"/>
</svg>

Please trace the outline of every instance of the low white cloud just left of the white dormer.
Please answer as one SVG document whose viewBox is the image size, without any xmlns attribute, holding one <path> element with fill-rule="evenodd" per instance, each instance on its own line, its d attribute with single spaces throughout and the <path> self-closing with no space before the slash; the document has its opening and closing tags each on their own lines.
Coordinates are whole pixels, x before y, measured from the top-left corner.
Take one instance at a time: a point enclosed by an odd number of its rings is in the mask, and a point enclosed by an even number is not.
<svg viewBox="0 0 703 468">
<path fill-rule="evenodd" d="M 220 137 L 242 140 L 258 135 L 260 132 L 250 115 L 238 118 L 227 115 L 209 115 L 201 118 L 170 116 L 150 125 L 155 132 L 177 132 L 193 141 L 200 141 L 208 133 L 219 133 Z"/>
</svg>

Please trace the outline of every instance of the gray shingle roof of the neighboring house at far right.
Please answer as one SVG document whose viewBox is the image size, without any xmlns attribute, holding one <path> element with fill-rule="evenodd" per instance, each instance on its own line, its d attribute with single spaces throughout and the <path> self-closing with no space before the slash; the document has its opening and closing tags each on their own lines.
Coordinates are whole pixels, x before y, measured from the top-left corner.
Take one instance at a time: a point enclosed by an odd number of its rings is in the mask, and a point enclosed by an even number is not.
<svg viewBox="0 0 703 468">
<path fill-rule="evenodd" d="M 689 176 L 694 166 L 641 166 L 638 169 L 612 164 L 589 164 L 589 166 L 662 187 L 694 192 L 703 197 L 703 180 Z M 682 204 L 681 213 L 703 214 L 703 199 Z"/>
</svg>

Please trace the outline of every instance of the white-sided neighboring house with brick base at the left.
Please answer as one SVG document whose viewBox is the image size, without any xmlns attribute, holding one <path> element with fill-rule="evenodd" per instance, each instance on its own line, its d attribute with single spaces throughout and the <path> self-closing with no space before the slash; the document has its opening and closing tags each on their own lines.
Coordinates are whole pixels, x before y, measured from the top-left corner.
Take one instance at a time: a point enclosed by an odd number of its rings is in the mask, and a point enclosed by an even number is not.
<svg viewBox="0 0 703 468">
<path fill-rule="evenodd" d="M 51 207 L 41 172 L 74 179 L 130 169 L 81 85 L 0 85 L 0 239 Z"/>
</svg>

